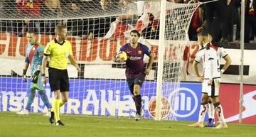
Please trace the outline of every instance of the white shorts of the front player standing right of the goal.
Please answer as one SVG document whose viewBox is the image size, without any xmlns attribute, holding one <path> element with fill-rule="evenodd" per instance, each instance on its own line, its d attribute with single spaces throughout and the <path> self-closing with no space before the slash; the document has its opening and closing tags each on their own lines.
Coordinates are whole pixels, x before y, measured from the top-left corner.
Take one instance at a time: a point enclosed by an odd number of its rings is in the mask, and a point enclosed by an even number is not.
<svg viewBox="0 0 256 137">
<path fill-rule="evenodd" d="M 203 80 L 202 93 L 206 93 L 209 97 L 217 97 L 220 89 L 220 78 L 213 79 L 213 83 L 208 85 L 209 80 Z"/>
</svg>

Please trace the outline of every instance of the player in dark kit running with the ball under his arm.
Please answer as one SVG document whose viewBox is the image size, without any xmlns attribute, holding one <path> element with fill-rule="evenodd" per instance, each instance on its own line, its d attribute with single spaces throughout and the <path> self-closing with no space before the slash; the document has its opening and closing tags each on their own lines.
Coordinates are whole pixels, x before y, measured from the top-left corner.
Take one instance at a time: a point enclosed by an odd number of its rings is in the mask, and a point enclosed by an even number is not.
<svg viewBox="0 0 256 137">
<path fill-rule="evenodd" d="M 119 50 L 119 52 L 124 51 L 128 56 L 128 59 L 126 60 L 125 75 L 137 110 L 135 117 L 136 121 L 140 120 L 142 110 L 142 96 L 140 95 L 140 89 L 145 80 L 145 76 L 149 75 L 154 59 L 154 55 L 149 48 L 142 43 L 138 43 L 138 40 L 139 32 L 137 30 L 131 31 L 129 38 L 130 43 L 126 43 Z M 149 56 L 149 65 L 147 68 L 144 67 L 144 54 Z M 114 55 L 113 61 L 116 61 L 115 58 Z M 121 58 L 120 62 L 124 62 L 124 59 Z"/>
</svg>

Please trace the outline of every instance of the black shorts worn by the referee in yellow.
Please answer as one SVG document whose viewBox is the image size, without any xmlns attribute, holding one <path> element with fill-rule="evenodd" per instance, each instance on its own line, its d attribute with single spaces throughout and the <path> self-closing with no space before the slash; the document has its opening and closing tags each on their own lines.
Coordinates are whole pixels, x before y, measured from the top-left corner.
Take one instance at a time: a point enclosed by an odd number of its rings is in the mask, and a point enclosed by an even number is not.
<svg viewBox="0 0 256 137">
<path fill-rule="evenodd" d="M 53 67 L 49 67 L 48 72 L 50 90 L 52 92 L 55 90 L 60 90 L 60 92 L 69 91 L 68 70 L 59 70 Z"/>
</svg>

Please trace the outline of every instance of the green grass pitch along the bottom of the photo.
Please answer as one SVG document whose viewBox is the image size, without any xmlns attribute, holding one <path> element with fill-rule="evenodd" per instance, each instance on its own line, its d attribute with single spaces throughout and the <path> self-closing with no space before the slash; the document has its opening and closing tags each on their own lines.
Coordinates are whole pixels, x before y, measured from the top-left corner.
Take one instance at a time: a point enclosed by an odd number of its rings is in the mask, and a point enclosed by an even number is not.
<svg viewBox="0 0 256 137">
<path fill-rule="evenodd" d="M 0 137 L 255 137 L 256 125 L 228 124 L 228 129 L 188 128 L 194 121 L 154 121 L 107 116 L 60 116 L 65 126 L 54 126 L 48 116 L 30 113 L 18 116 L 0 111 Z"/>
</svg>

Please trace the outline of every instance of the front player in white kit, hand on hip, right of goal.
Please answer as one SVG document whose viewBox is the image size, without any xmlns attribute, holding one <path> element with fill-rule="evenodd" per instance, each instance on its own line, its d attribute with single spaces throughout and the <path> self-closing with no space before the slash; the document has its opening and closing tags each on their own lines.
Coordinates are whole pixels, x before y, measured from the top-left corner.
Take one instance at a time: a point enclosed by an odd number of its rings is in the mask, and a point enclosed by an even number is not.
<svg viewBox="0 0 256 137">
<path fill-rule="evenodd" d="M 208 98 L 210 97 L 213 101 L 215 111 L 220 119 L 220 125 L 216 128 L 228 128 L 225 124 L 223 116 L 223 109 L 218 99 L 219 87 L 220 87 L 220 60 L 217 53 L 218 47 L 210 45 L 208 39 L 208 33 L 201 32 L 198 34 L 198 44 L 203 45 L 203 48 L 198 51 L 195 61 L 193 62 L 193 68 L 196 72 L 198 80 L 203 82 L 202 84 L 202 97 L 201 97 L 201 108 L 199 112 L 198 122 L 196 124 L 188 125 L 189 127 L 203 127 L 203 120 L 206 116 L 208 109 Z M 197 70 L 197 62 L 203 60 L 203 71 L 204 75 L 200 76 Z"/>
</svg>

